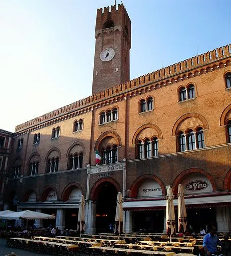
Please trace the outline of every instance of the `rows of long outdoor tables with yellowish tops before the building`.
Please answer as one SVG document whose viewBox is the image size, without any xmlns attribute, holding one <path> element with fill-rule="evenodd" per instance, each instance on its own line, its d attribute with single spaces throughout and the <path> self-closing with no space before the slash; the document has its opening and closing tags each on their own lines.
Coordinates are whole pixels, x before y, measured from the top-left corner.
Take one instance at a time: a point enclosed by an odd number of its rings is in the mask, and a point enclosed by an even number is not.
<svg viewBox="0 0 231 256">
<path fill-rule="evenodd" d="M 74 254 L 78 251 L 85 251 L 85 253 L 97 253 L 97 254 L 163 254 L 171 256 L 176 253 L 189 253 L 192 255 L 196 239 L 193 237 L 185 238 L 172 238 L 172 242 L 169 242 L 169 238 L 163 234 L 121 234 L 115 236 L 113 234 L 83 234 L 81 237 L 33 237 L 33 239 L 24 238 L 11 238 L 14 241 L 20 241 L 21 243 L 34 243 L 37 245 L 58 246 L 64 248 L 65 255 L 70 253 Z M 151 241 L 161 240 L 161 241 Z M 198 247 L 199 248 L 199 247 Z M 177 254 L 178 255 L 178 254 Z M 185 255 L 186 256 L 186 255 Z"/>
</svg>

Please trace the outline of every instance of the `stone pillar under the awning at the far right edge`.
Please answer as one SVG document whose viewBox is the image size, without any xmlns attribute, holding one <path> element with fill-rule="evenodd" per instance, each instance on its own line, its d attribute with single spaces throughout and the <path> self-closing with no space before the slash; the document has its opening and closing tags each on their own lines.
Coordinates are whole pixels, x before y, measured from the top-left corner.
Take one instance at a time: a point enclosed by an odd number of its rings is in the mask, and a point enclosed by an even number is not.
<svg viewBox="0 0 231 256">
<path fill-rule="evenodd" d="M 228 206 L 216 207 L 216 221 L 218 232 L 231 231 L 231 209 Z"/>
</svg>

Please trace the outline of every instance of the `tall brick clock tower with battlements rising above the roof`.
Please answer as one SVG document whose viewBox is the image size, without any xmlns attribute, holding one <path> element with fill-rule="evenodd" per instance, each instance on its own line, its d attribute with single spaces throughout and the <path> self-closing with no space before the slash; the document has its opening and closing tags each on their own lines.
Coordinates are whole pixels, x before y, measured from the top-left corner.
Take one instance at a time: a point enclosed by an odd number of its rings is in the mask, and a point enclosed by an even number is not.
<svg viewBox="0 0 231 256">
<path fill-rule="evenodd" d="M 130 80 L 131 20 L 123 4 L 97 10 L 92 95 Z"/>
</svg>

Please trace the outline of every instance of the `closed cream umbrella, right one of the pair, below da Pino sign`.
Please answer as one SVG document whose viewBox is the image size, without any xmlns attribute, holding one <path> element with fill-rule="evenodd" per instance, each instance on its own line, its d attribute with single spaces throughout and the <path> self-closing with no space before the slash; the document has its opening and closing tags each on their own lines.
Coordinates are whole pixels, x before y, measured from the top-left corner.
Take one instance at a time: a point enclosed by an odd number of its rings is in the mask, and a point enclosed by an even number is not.
<svg viewBox="0 0 231 256">
<path fill-rule="evenodd" d="M 177 204 L 178 204 L 178 232 L 185 232 L 187 228 L 187 213 L 185 207 L 185 198 L 184 198 L 184 188 L 182 184 L 178 185 L 178 194 L 177 194 Z"/>
</svg>

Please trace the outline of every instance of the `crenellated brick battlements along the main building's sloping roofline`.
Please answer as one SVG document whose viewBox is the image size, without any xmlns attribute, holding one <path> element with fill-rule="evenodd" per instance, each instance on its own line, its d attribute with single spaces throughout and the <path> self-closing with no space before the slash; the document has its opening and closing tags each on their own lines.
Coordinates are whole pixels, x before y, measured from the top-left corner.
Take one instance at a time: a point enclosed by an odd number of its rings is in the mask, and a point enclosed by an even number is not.
<svg viewBox="0 0 231 256">
<path fill-rule="evenodd" d="M 231 58 L 231 44 L 180 61 L 157 71 L 153 71 L 152 73 L 124 82 L 115 87 L 98 92 L 97 94 L 75 101 L 63 106 L 62 108 L 19 124 L 15 127 L 15 133 L 16 135 L 22 135 L 24 133 L 32 132 L 34 130 L 41 129 L 44 126 L 63 121 L 67 118 L 90 112 L 94 108 L 97 109 L 98 107 L 101 107 L 101 105 L 122 100 L 128 95 L 131 97 L 132 95 L 136 95 L 136 93 L 139 94 L 141 93 L 141 90 L 145 92 L 146 90 L 150 91 L 160 89 L 175 83 L 178 80 L 181 81 L 183 79 L 188 79 L 189 76 L 193 77 L 200 75 L 201 71 L 207 73 L 208 70 L 203 69 L 204 66 L 212 65 L 209 71 L 213 71 L 214 68 L 220 68 L 219 63 L 223 63 L 225 67 L 226 62 L 224 60 L 228 57 Z M 229 62 L 230 61 L 231 60 L 229 60 Z M 131 93 L 134 90 L 138 90 L 138 92 Z"/>
</svg>

